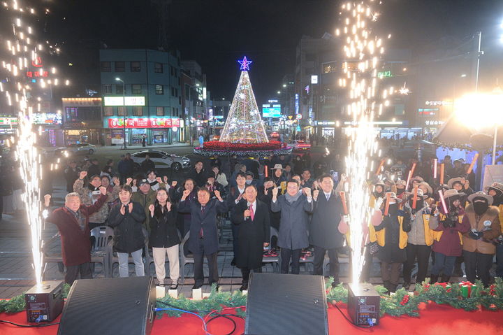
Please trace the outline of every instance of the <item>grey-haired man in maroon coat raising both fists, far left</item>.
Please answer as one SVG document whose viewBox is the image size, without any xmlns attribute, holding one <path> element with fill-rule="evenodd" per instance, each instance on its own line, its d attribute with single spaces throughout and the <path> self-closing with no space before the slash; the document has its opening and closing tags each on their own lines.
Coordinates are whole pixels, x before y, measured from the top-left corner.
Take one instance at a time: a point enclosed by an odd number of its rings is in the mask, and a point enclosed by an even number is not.
<svg viewBox="0 0 503 335">
<path fill-rule="evenodd" d="M 70 285 L 80 278 L 92 278 L 89 215 L 96 213 L 106 202 L 106 188 L 100 187 L 100 196 L 92 206 L 80 204 L 78 193 L 66 194 L 64 207 L 54 210 L 47 222 L 56 224 L 61 235 L 61 255 L 66 266 L 65 283 Z M 45 207 L 50 204 L 50 194 L 44 196 Z"/>
</svg>

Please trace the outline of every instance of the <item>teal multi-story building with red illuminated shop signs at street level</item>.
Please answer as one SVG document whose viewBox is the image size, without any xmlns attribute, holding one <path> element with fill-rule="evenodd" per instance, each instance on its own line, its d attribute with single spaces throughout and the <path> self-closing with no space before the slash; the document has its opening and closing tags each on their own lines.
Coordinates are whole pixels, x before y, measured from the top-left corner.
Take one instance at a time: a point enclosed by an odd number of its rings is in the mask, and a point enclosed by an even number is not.
<svg viewBox="0 0 503 335">
<path fill-rule="evenodd" d="M 105 144 L 185 141 L 180 52 L 100 50 Z"/>
</svg>

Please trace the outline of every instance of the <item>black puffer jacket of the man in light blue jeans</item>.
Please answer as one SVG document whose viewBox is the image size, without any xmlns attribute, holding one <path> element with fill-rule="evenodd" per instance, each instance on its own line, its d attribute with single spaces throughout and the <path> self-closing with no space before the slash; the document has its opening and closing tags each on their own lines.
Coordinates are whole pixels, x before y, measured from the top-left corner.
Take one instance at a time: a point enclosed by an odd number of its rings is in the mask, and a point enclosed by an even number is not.
<svg viewBox="0 0 503 335">
<path fill-rule="evenodd" d="M 120 208 L 122 204 L 113 206 L 108 217 L 108 225 L 114 229 L 114 248 L 117 252 L 133 252 L 145 246 L 145 236 L 143 236 L 143 222 L 145 221 L 145 209 L 138 202 L 133 202 L 133 211 L 129 213 L 126 206 L 126 213 L 122 215 Z"/>
</svg>

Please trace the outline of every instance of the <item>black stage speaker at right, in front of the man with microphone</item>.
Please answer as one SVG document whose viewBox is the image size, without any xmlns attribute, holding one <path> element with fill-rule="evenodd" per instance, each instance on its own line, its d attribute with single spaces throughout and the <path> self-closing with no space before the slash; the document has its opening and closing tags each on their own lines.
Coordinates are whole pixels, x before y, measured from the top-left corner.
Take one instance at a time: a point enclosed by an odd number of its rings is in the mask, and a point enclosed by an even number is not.
<svg viewBox="0 0 503 335">
<path fill-rule="evenodd" d="M 246 335 L 327 335 L 323 276 L 251 273 Z"/>
</svg>

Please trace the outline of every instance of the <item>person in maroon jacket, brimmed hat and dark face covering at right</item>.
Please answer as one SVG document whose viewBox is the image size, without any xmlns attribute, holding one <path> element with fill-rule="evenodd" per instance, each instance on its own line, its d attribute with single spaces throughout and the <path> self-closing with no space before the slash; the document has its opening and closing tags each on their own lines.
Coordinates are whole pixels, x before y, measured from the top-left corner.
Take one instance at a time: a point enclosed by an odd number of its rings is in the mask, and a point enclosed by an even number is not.
<svg viewBox="0 0 503 335">
<path fill-rule="evenodd" d="M 437 220 L 430 218 L 430 229 L 435 230 L 432 247 L 435 262 L 431 271 L 431 283 L 438 281 L 440 271 L 442 271 L 440 283 L 449 283 L 455 260 L 462 255 L 461 234 L 469 230 L 468 222 L 462 220 L 465 210 L 461 206 L 461 199 L 465 195 L 458 193 L 457 190 L 447 190 L 444 193 L 447 213 L 444 213 L 442 206 L 437 208 L 437 211 L 432 208 L 432 216 L 437 217 Z"/>
</svg>

